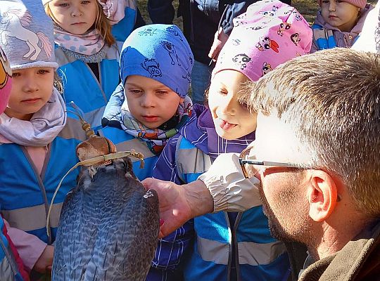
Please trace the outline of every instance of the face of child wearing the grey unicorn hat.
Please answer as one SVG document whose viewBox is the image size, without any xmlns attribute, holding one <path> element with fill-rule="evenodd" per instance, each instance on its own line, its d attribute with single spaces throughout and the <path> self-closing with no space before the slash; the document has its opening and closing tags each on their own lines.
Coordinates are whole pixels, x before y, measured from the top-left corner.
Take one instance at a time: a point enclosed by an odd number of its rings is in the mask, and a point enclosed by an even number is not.
<svg viewBox="0 0 380 281">
<path fill-rule="evenodd" d="M 30 120 L 51 97 L 54 70 L 52 67 L 30 67 L 13 70 L 12 77 L 11 96 L 4 112 L 8 117 Z"/>
</svg>

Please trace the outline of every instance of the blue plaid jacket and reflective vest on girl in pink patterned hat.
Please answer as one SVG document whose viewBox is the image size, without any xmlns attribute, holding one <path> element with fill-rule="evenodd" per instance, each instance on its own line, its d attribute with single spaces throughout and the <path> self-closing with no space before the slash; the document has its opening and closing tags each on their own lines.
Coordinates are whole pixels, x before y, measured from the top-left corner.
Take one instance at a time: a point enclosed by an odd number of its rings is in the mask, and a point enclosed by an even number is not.
<svg viewBox="0 0 380 281">
<path fill-rule="evenodd" d="M 255 134 L 228 141 L 217 136 L 210 111 L 191 121 L 164 148 L 155 178 L 175 183 L 196 181 L 223 152 L 241 152 Z M 282 242 L 274 240 L 262 207 L 243 213 L 220 211 L 194 218 L 196 237 L 184 259 L 184 280 L 286 280 L 289 259 Z"/>
</svg>

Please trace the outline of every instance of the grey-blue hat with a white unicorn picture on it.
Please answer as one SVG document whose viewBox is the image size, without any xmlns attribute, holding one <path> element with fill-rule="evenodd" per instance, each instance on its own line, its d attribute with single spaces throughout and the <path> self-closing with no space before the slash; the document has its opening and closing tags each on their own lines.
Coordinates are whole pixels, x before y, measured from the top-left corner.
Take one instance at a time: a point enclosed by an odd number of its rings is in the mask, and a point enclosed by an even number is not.
<svg viewBox="0 0 380 281">
<path fill-rule="evenodd" d="M 40 1 L 2 0 L 0 30 L 0 46 L 8 55 L 12 70 L 58 67 L 53 48 L 53 22 Z"/>
</svg>

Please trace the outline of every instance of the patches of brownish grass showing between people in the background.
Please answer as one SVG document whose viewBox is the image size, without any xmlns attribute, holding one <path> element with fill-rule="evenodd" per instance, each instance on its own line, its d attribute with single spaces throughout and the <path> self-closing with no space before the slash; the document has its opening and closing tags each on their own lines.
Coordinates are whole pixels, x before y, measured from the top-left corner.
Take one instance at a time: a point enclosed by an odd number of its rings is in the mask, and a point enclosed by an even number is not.
<svg viewBox="0 0 380 281">
<path fill-rule="evenodd" d="M 137 0 L 137 5 L 139 6 L 141 14 L 148 24 L 151 23 L 151 20 L 149 18 L 148 12 L 146 11 L 146 1 L 147 0 Z M 377 1 L 369 0 L 368 2 L 371 4 L 376 4 Z M 173 6 L 175 6 L 175 9 L 177 11 L 178 0 L 173 1 Z M 292 6 L 294 6 L 301 13 L 301 15 L 303 15 L 305 20 L 308 20 L 310 25 L 312 22 L 314 22 L 315 15 L 317 15 L 317 11 L 319 9 L 317 0 L 293 0 Z M 182 28 L 182 18 L 175 18 L 174 24 Z"/>
</svg>

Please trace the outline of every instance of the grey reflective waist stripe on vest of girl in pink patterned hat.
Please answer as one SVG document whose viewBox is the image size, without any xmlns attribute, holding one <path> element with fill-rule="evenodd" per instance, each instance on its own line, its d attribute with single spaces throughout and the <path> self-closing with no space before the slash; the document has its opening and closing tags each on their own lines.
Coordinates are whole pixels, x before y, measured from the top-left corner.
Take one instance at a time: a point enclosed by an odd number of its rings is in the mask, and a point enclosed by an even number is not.
<svg viewBox="0 0 380 281">
<path fill-rule="evenodd" d="M 229 244 L 197 237 L 198 253 L 204 261 L 228 265 Z M 239 263 L 260 266 L 272 263 L 286 251 L 284 243 L 275 241 L 259 244 L 239 242 Z"/>
</svg>

